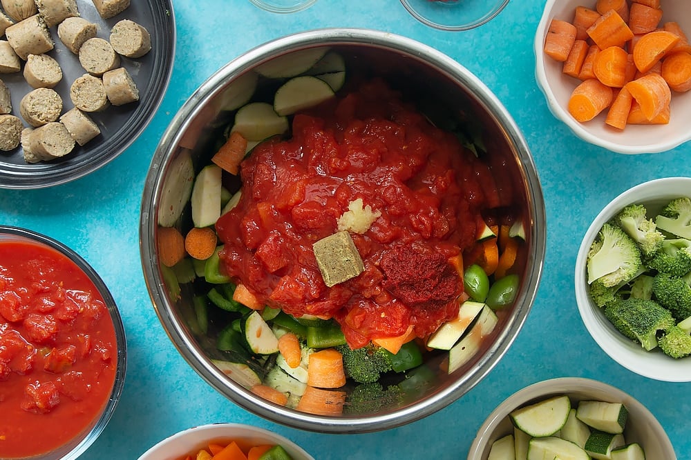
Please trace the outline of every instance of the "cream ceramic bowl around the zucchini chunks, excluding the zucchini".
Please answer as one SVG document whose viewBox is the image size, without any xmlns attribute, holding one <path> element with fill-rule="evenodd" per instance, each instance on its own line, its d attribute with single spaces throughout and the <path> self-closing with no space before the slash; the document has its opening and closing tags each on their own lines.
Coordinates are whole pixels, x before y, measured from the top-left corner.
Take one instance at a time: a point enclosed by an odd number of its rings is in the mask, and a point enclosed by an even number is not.
<svg viewBox="0 0 691 460">
<path fill-rule="evenodd" d="M 468 452 L 468 460 L 486 460 L 492 443 L 513 432 L 508 416 L 514 409 L 560 394 L 567 394 L 574 405 L 578 401 L 587 400 L 623 403 L 629 411 L 624 429 L 626 442 L 640 444 L 647 459 L 676 460 L 670 438 L 643 404 L 618 388 L 579 377 L 540 381 L 513 393 L 487 417 L 477 431 Z"/>
</svg>

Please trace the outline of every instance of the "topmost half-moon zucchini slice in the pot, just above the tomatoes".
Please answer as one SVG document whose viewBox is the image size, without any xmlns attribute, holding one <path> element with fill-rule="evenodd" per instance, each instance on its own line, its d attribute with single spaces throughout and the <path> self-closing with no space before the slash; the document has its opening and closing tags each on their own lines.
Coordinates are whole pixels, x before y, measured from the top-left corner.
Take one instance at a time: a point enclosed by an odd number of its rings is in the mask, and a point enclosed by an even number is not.
<svg viewBox="0 0 691 460">
<path fill-rule="evenodd" d="M 321 79 L 310 75 L 295 77 L 283 83 L 283 86 L 276 90 L 274 111 L 278 116 L 283 117 L 305 108 L 314 107 L 335 95 L 336 93 L 331 89 L 329 83 Z"/>
</svg>

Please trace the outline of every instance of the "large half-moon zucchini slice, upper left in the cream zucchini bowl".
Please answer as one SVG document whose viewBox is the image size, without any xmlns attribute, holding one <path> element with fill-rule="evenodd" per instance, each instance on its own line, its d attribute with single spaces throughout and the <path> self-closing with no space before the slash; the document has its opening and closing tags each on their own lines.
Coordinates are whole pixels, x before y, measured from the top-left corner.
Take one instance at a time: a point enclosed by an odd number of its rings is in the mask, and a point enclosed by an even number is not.
<svg viewBox="0 0 691 460">
<path fill-rule="evenodd" d="M 568 396 L 556 396 L 514 410 L 509 414 L 513 425 L 532 437 L 545 437 L 561 430 L 569 418 L 571 401 Z"/>
</svg>

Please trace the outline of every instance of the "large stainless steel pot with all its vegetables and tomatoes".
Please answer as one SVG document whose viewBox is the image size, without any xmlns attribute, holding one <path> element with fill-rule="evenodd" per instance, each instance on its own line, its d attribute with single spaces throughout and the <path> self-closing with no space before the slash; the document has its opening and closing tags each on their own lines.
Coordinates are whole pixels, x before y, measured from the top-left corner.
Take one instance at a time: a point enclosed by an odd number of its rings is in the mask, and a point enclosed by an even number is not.
<svg viewBox="0 0 691 460">
<path fill-rule="evenodd" d="M 453 59 L 372 30 L 249 50 L 164 134 L 141 254 L 162 325 L 256 414 L 366 432 L 495 366 L 545 253 L 522 134 Z"/>
</svg>

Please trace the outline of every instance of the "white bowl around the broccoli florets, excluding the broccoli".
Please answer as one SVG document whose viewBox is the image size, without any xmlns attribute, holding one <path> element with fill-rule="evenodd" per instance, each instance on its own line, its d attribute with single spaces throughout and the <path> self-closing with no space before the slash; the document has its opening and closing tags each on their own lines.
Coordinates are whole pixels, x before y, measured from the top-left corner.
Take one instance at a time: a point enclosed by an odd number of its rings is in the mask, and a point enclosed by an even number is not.
<svg viewBox="0 0 691 460">
<path fill-rule="evenodd" d="M 625 206 L 639 203 L 654 215 L 670 200 L 691 193 L 691 178 L 667 177 L 655 179 L 630 188 L 613 199 L 591 223 L 576 257 L 576 303 L 580 317 L 600 348 L 614 361 L 643 377 L 661 381 L 691 381 L 691 358 L 672 359 L 659 350 L 647 352 L 627 339 L 605 318 L 601 308 L 591 301 L 587 289 L 586 260 L 588 250 L 603 223 L 612 219 Z"/>
</svg>

